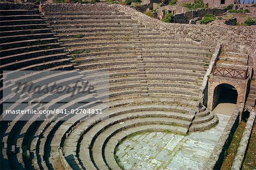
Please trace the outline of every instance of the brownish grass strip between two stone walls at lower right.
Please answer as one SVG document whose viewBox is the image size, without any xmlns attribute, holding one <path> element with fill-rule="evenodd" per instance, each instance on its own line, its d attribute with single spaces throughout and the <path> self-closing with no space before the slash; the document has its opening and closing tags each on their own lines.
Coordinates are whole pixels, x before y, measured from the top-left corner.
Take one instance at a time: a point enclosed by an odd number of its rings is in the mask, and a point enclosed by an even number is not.
<svg viewBox="0 0 256 170">
<path fill-rule="evenodd" d="M 242 138 L 243 130 L 245 129 L 246 123 L 240 122 L 238 125 L 236 131 L 234 132 L 234 135 L 232 136 L 231 143 L 227 150 L 224 152 L 224 160 L 221 165 L 221 170 L 224 169 L 231 169 L 234 158 L 237 154 L 237 149 L 240 144 L 240 140 Z"/>
</svg>

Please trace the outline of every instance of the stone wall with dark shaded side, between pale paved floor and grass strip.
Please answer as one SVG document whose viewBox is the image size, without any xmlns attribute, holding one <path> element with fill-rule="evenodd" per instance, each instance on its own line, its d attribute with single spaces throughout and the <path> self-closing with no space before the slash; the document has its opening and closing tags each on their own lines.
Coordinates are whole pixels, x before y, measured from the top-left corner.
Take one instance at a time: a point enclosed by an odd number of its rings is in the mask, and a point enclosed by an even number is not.
<svg viewBox="0 0 256 170">
<path fill-rule="evenodd" d="M 224 159 L 224 152 L 228 148 L 232 136 L 236 131 L 236 128 L 239 123 L 239 115 L 241 114 L 242 109 L 238 107 L 233 111 L 232 116 L 229 119 L 228 125 L 226 125 L 218 144 L 214 147 L 212 155 L 208 160 L 208 164 L 205 165 L 203 169 L 220 169 L 222 160 Z"/>
</svg>

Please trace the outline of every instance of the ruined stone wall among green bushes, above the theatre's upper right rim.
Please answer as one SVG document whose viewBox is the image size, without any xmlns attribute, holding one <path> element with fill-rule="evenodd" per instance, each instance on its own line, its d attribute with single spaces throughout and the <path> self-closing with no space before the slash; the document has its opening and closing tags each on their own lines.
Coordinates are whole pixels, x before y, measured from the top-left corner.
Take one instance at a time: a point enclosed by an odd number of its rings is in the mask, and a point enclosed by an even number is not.
<svg viewBox="0 0 256 170">
<path fill-rule="evenodd" d="M 203 18 L 205 14 L 213 14 L 220 16 L 226 12 L 226 9 L 200 9 L 195 11 L 187 11 L 183 14 L 176 14 L 172 19 L 174 23 L 189 23 L 189 20 L 193 18 Z"/>
</svg>

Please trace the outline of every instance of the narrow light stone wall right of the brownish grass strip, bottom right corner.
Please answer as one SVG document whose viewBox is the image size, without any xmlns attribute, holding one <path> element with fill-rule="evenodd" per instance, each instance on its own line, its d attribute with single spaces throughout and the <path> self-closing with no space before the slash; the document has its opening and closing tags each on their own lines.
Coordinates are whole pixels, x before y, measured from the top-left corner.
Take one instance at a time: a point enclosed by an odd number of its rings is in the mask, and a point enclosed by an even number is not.
<svg viewBox="0 0 256 170">
<path fill-rule="evenodd" d="M 250 113 L 250 117 L 247 120 L 245 130 L 243 131 L 242 139 L 240 141 L 238 150 L 237 150 L 237 155 L 234 159 L 234 162 L 232 164 L 232 169 L 241 169 L 243 158 L 245 156 L 247 144 L 249 142 L 250 136 L 251 136 L 251 131 L 253 129 L 253 124 L 255 120 L 255 112 L 254 109 Z"/>
</svg>

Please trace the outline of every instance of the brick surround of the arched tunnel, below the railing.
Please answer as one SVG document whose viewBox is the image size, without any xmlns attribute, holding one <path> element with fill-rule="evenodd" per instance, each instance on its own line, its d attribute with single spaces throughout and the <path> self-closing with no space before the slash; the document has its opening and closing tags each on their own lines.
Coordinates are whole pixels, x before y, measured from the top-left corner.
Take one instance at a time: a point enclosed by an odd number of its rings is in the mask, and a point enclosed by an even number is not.
<svg viewBox="0 0 256 170">
<path fill-rule="evenodd" d="M 229 78 L 221 78 L 221 80 L 209 80 L 208 86 L 208 102 L 207 106 L 210 110 L 212 110 L 213 106 L 213 97 L 214 97 L 214 89 L 221 84 L 229 84 L 232 85 L 237 90 L 237 105 L 241 105 L 245 102 L 245 94 L 246 94 L 246 86 L 241 81 L 232 81 Z"/>
</svg>

